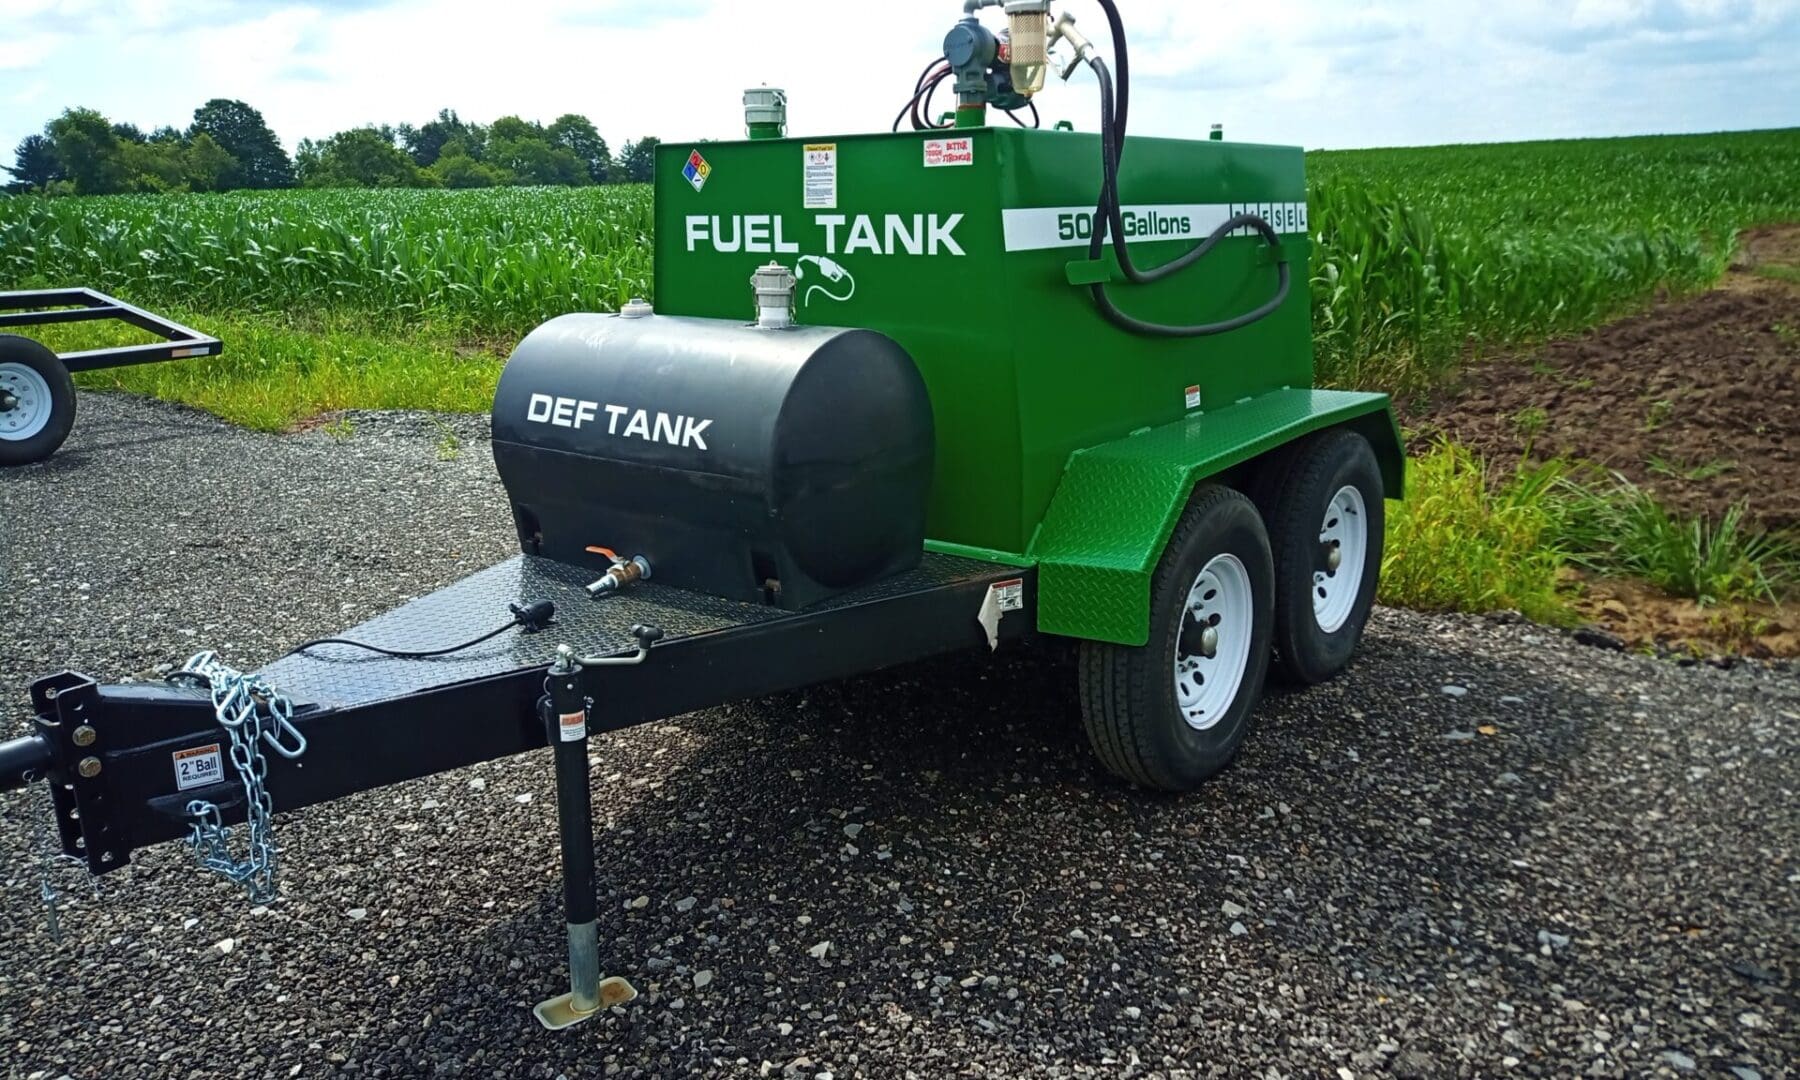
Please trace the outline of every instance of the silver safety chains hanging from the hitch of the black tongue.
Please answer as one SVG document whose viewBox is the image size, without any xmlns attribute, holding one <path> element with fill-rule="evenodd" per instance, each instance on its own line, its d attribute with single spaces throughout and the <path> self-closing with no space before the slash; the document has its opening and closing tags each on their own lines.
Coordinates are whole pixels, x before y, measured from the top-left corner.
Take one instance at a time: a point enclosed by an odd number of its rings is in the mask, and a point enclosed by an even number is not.
<svg viewBox="0 0 1800 1080">
<path fill-rule="evenodd" d="M 274 904 L 275 884 L 275 805 L 268 797 L 268 758 L 263 745 L 288 758 L 290 761 L 306 752 L 306 736 L 293 727 L 293 702 L 284 693 L 254 675 L 227 666 L 218 653 L 196 653 L 180 671 L 169 675 L 169 682 L 187 686 L 207 686 L 212 691 L 212 713 L 220 727 L 230 736 L 230 761 L 238 767 L 243 781 L 245 824 L 250 828 L 250 850 L 245 859 L 230 853 L 230 832 L 220 815 L 220 808 L 207 799 L 187 803 L 187 814 L 194 819 L 187 846 L 193 848 L 200 866 L 243 886 L 252 904 Z M 281 742 L 288 736 L 292 743 Z"/>
</svg>

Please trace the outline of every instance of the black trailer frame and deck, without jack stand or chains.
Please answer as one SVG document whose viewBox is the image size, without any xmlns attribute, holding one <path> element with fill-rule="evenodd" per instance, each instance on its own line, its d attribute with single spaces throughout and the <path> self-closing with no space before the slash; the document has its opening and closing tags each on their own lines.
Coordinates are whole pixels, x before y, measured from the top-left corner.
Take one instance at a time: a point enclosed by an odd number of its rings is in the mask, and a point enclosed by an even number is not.
<svg viewBox="0 0 1800 1080">
<path fill-rule="evenodd" d="M 977 614 L 994 587 L 1022 592 L 1022 610 L 999 625 L 995 643 L 1035 635 L 1035 571 L 945 554 L 927 554 L 918 571 L 801 612 L 653 583 L 639 594 L 592 601 L 578 585 L 590 576 L 581 567 L 513 556 L 349 632 L 407 644 L 410 630 L 427 643 L 446 626 L 504 616 L 509 596 L 556 603 L 549 628 L 500 639 L 472 659 L 389 661 L 328 646 L 265 668 L 261 675 L 293 698 L 293 727 L 311 747 L 304 760 L 270 760 L 266 787 L 277 812 L 549 745 L 538 700 L 554 646 L 628 655 L 637 646 L 634 623 L 670 632 L 648 662 L 583 675 L 594 700 L 592 734 L 986 648 Z M 704 621 L 684 626 L 680 608 Z M 49 781 L 61 851 L 92 873 L 124 868 L 137 848 L 185 839 L 193 799 L 216 803 L 227 824 L 245 819 L 229 760 L 205 774 L 211 783 L 203 787 L 178 783 L 178 754 L 218 751 L 223 742 L 205 689 L 103 686 L 63 671 L 32 684 L 31 698 L 34 731 L 0 742 L 0 790 L 25 787 L 27 778 Z"/>
</svg>

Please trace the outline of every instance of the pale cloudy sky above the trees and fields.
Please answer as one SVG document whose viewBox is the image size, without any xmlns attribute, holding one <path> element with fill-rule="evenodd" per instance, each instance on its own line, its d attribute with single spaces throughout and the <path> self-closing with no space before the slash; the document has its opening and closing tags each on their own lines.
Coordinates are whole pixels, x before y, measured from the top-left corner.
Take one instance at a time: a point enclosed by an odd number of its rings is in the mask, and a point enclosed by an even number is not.
<svg viewBox="0 0 1800 1080">
<path fill-rule="evenodd" d="M 1103 40 L 1091 0 L 1067 11 Z M 1800 126 L 1800 0 L 1120 0 L 1132 131 L 1307 148 Z M 959 0 L 0 0 L 0 158 L 65 106 L 146 131 L 209 97 L 290 151 L 439 108 L 733 137 L 785 86 L 792 131 L 886 128 Z M 988 13 L 992 25 L 997 16 Z M 947 101 L 947 99 L 945 99 Z M 1093 79 L 1046 122 L 1094 126 Z"/>
</svg>

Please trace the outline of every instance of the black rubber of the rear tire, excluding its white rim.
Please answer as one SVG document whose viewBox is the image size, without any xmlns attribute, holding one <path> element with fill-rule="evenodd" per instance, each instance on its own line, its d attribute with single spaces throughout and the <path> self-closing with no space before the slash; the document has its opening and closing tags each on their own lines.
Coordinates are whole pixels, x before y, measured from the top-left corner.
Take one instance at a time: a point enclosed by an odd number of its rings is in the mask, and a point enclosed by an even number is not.
<svg viewBox="0 0 1800 1080">
<path fill-rule="evenodd" d="M 1366 549 L 1348 616 L 1327 630 L 1314 612 L 1314 574 L 1337 574 L 1328 569 L 1328 545 L 1319 538 L 1321 527 L 1332 520 L 1327 508 L 1343 488 L 1355 488 L 1361 495 Z M 1332 428 L 1294 446 L 1285 468 L 1273 473 L 1262 491 L 1258 502 L 1274 549 L 1273 675 L 1287 684 L 1316 686 L 1350 666 L 1368 614 L 1375 608 L 1388 526 L 1381 464 L 1368 439 Z"/>
</svg>

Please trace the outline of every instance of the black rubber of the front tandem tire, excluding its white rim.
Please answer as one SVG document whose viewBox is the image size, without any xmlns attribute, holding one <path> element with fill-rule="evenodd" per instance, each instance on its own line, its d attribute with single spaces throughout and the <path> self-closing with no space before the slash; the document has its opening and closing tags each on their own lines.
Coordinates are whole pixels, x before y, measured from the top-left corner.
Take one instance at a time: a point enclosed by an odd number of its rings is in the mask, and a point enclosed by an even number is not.
<svg viewBox="0 0 1800 1080">
<path fill-rule="evenodd" d="M 1237 697 L 1210 727 L 1195 729 L 1175 698 L 1175 650 L 1188 592 L 1220 554 L 1235 554 L 1247 571 L 1249 652 Z M 1229 765 L 1262 697 L 1273 634 L 1274 563 L 1256 506 L 1229 488 L 1197 490 L 1150 580 L 1150 641 L 1082 643 L 1082 720 L 1100 761 L 1114 776 L 1168 792 L 1190 790 Z"/>
</svg>

